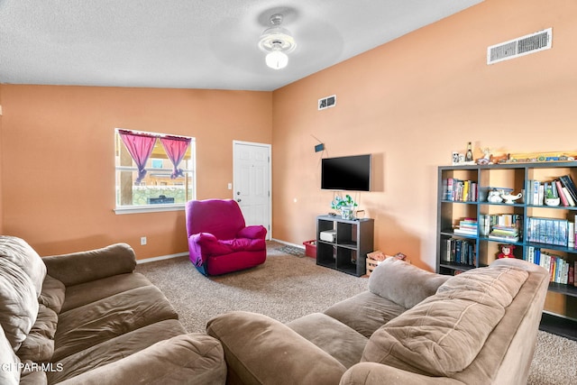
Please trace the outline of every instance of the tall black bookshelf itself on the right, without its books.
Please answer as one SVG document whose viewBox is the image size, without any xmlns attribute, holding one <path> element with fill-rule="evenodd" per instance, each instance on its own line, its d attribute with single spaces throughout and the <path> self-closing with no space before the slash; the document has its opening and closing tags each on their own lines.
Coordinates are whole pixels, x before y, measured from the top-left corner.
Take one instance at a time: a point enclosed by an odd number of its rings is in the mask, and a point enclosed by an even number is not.
<svg viewBox="0 0 577 385">
<path fill-rule="evenodd" d="M 531 261 L 532 250 L 540 249 L 559 256 L 563 261 L 574 265 L 577 261 L 577 248 L 552 243 L 529 242 L 528 218 L 544 217 L 552 220 L 566 220 L 577 223 L 577 206 L 544 206 L 533 203 L 527 196 L 532 186 L 529 181 L 539 183 L 559 180 L 569 175 L 577 181 L 577 161 L 552 161 L 535 163 L 506 163 L 498 165 L 456 165 L 441 166 L 437 174 L 437 232 L 436 232 L 436 270 L 442 274 L 458 274 L 465 270 L 489 265 L 497 258 L 499 245 L 508 243 L 515 246 L 514 256 Z M 448 197 L 447 179 L 459 179 L 474 183 L 476 196 Z M 525 190 L 522 199 L 513 204 L 490 202 L 491 188 L 508 188 L 513 194 Z M 528 203 L 527 203 L 528 202 Z M 519 215 L 522 227 L 515 242 L 491 239 L 486 231 L 481 231 L 481 218 L 487 215 Z M 463 218 L 476 219 L 476 234 L 456 234 L 455 225 L 460 225 Z M 577 224 L 576 224 L 577 225 Z M 464 240 L 475 245 L 473 263 L 459 263 L 453 259 L 449 245 L 452 239 Z M 549 294 L 541 321 L 541 329 L 555 335 L 577 339 L 577 287 L 572 284 L 551 282 Z M 552 300 L 549 300 L 552 299 Z"/>
</svg>

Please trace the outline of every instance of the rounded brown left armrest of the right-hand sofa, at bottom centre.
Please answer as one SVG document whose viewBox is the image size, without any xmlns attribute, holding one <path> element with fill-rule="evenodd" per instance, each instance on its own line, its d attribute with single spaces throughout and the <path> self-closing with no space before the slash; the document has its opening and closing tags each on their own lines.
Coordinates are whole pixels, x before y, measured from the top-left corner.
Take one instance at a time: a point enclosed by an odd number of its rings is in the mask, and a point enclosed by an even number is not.
<svg viewBox="0 0 577 385">
<path fill-rule="evenodd" d="M 234 311 L 206 325 L 224 348 L 229 380 L 243 384 L 336 384 L 346 368 L 289 326 Z"/>
</svg>

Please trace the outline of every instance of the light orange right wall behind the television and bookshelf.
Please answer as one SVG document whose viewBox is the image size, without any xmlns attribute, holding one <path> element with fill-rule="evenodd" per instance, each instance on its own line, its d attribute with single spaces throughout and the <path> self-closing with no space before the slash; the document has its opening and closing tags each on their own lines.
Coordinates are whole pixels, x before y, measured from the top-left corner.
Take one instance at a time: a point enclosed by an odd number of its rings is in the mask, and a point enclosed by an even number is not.
<svg viewBox="0 0 577 385">
<path fill-rule="evenodd" d="M 274 237 L 314 239 L 330 211 L 315 136 L 325 156 L 373 154 L 375 191 L 360 208 L 376 248 L 434 270 L 436 172 L 452 151 L 577 151 L 575 14 L 573 0 L 486 0 L 275 91 Z M 488 46 L 548 27 L 551 50 L 486 64 Z M 336 106 L 317 111 L 333 94 Z"/>
</svg>

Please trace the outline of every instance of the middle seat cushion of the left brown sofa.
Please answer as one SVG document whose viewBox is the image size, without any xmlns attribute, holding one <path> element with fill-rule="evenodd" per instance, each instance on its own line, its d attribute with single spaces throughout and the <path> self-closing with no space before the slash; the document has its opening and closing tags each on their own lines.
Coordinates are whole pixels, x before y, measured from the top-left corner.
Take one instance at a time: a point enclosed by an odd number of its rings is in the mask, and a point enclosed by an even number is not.
<svg viewBox="0 0 577 385">
<path fill-rule="evenodd" d="M 154 286 L 130 289 L 60 313 L 52 360 L 178 315 Z"/>
</svg>

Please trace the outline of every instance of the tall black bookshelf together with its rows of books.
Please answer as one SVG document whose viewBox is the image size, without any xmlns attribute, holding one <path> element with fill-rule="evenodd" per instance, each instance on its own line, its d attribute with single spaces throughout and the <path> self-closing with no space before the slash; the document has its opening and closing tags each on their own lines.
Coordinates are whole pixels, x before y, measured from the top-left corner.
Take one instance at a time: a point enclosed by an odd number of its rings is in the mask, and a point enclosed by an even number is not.
<svg viewBox="0 0 577 385">
<path fill-rule="evenodd" d="M 563 274 L 563 263 L 574 266 L 577 260 L 577 249 L 566 242 L 570 234 L 563 235 L 568 224 L 574 224 L 577 219 L 577 206 L 563 206 L 563 203 L 545 206 L 537 187 L 545 183 L 550 187 L 564 176 L 577 181 L 577 161 L 439 167 L 437 272 L 456 274 L 487 266 L 497 258 L 499 245 L 510 244 L 513 255 L 519 259 L 533 261 L 536 250 L 558 257 L 555 265 L 548 267 L 556 269 L 552 271 L 552 280 L 563 280 L 563 276 L 559 276 Z M 452 186 L 455 181 L 458 187 Z M 502 189 L 512 195 L 523 191 L 524 195 L 512 204 L 490 202 L 491 189 Z M 486 224 L 489 220 L 492 222 Z M 497 222 L 502 229 L 494 225 Z M 544 230 L 539 230 L 545 232 L 539 234 L 542 238 L 535 234 L 536 228 L 539 229 L 536 223 L 543 224 Z M 563 236 L 565 241 L 561 239 Z M 469 253 L 466 258 L 463 258 L 463 247 Z M 577 287 L 552 281 L 545 311 L 577 320 Z"/>
</svg>

